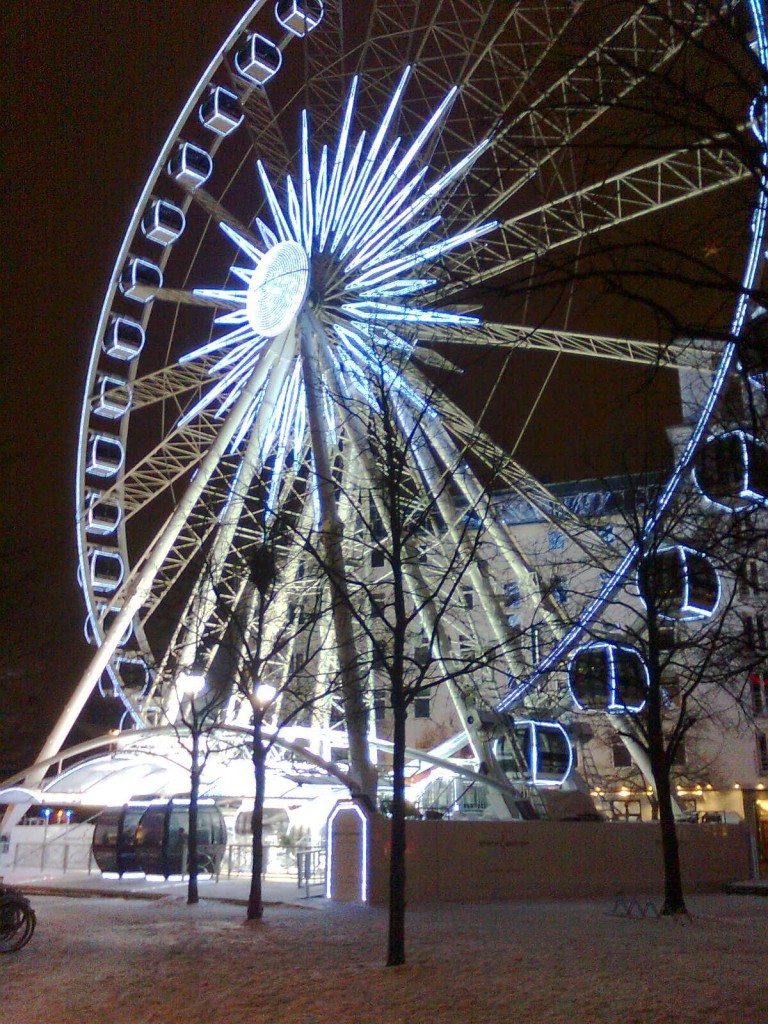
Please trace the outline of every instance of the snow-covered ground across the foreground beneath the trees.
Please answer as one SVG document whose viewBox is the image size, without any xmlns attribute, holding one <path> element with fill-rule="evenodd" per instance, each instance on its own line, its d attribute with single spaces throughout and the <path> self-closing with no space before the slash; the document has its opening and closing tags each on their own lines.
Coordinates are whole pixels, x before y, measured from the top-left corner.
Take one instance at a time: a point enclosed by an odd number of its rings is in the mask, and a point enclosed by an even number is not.
<svg viewBox="0 0 768 1024">
<path fill-rule="evenodd" d="M 34 896 L 38 928 L 0 957 L 3 1024 L 766 1024 L 768 900 L 700 896 L 690 921 L 608 902 L 414 909 L 408 964 L 386 913 Z"/>
</svg>

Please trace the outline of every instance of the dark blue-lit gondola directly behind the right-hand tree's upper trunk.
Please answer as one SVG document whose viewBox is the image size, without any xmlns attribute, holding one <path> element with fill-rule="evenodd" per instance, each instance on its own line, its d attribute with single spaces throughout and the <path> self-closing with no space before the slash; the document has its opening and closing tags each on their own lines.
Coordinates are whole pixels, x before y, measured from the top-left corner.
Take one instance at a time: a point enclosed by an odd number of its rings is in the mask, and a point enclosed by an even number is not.
<svg viewBox="0 0 768 1024">
<path fill-rule="evenodd" d="M 709 558 L 682 544 L 648 555 L 638 572 L 640 596 L 665 618 L 709 618 L 720 601 L 720 580 Z"/>
</svg>

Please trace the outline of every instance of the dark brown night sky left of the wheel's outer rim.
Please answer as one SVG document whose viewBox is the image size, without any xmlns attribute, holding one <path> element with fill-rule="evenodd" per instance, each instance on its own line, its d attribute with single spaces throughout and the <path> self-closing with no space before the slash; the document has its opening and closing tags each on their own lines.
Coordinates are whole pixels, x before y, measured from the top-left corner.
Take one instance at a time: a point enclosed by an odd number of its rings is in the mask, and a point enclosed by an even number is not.
<svg viewBox="0 0 768 1024">
<path fill-rule="evenodd" d="M 23 743 L 39 745 L 88 655 L 75 452 L 102 295 L 157 151 L 242 8 L 46 0 L 5 11 L 0 710 L 33 709 L 40 735 Z"/>
</svg>

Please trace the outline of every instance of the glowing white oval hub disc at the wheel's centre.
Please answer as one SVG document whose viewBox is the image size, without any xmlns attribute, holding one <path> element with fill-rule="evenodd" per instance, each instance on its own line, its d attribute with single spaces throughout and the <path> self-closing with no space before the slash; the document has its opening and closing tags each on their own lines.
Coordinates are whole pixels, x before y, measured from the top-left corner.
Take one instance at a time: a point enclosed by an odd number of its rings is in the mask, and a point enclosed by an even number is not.
<svg viewBox="0 0 768 1024">
<path fill-rule="evenodd" d="M 256 334 L 276 338 L 298 315 L 309 289 L 309 260 L 298 242 L 279 242 L 259 260 L 246 315 Z"/>
</svg>

